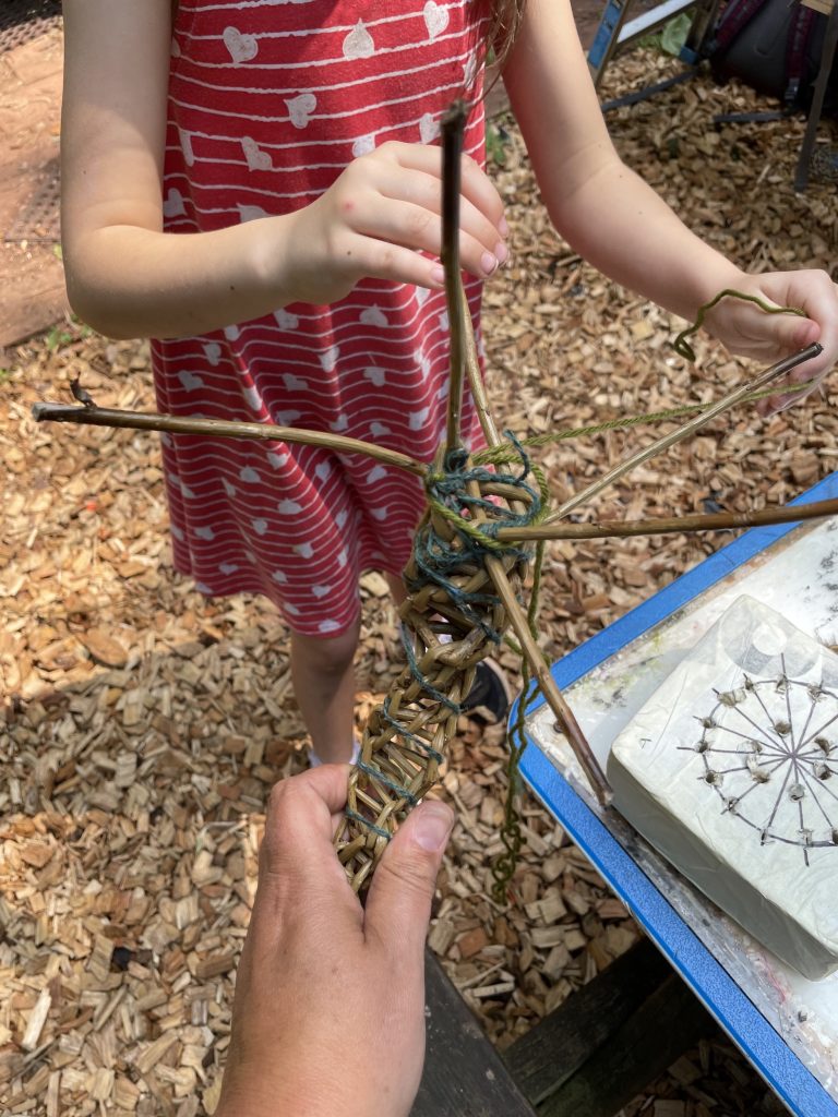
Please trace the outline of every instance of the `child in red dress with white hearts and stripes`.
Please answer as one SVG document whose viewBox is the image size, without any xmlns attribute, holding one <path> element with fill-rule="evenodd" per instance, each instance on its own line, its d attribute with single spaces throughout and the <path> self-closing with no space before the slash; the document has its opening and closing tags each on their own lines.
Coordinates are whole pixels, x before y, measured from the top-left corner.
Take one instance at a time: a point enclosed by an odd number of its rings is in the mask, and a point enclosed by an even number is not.
<svg viewBox="0 0 838 1117">
<path fill-rule="evenodd" d="M 160 338 L 161 411 L 432 458 L 448 380 L 435 140 L 467 95 L 460 255 L 477 328 L 482 283 L 507 257 L 482 57 L 518 17 L 504 82 L 574 249 L 689 321 L 723 288 L 806 312 L 722 300 L 705 324 L 733 353 L 770 363 L 820 341 L 806 379 L 838 355 L 826 273 L 744 274 L 620 162 L 569 0 L 65 0 L 64 16 L 68 292 L 102 333 Z M 468 401 L 463 430 L 479 445 Z M 347 760 L 359 575 L 382 570 L 403 592 L 418 481 L 280 442 L 164 437 L 163 460 L 177 567 L 203 592 L 278 605 L 316 757 Z"/>
</svg>

